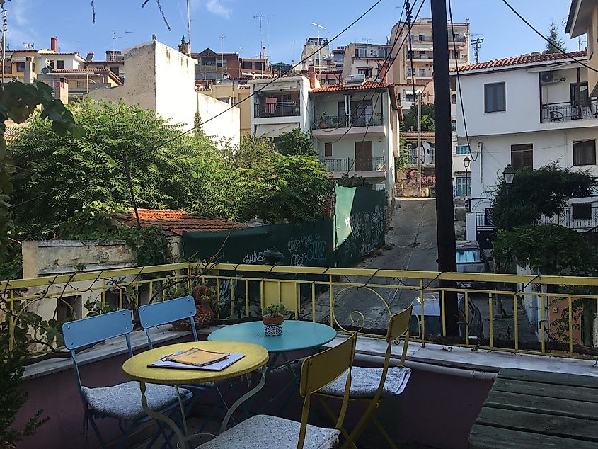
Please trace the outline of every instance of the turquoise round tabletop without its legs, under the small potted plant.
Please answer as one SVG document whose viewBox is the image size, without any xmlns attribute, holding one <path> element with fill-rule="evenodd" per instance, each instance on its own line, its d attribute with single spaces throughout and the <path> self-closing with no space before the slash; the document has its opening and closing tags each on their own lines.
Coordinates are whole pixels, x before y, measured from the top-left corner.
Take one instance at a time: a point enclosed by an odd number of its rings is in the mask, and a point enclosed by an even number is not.
<svg viewBox="0 0 598 449">
<path fill-rule="evenodd" d="M 317 348 L 336 337 L 336 331 L 326 324 L 285 319 L 281 336 L 265 336 L 260 321 L 231 324 L 212 332 L 210 341 L 243 341 L 266 348 L 270 353 L 286 353 Z"/>
</svg>

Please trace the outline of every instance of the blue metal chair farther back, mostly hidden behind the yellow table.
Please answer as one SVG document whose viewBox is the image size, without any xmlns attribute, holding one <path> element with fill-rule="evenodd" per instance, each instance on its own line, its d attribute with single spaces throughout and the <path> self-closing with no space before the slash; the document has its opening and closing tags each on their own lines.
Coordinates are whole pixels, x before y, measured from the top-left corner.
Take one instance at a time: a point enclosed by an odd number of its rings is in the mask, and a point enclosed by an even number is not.
<svg viewBox="0 0 598 449">
<path fill-rule="evenodd" d="M 145 333 L 147 336 L 147 344 L 149 348 L 154 348 L 154 345 L 151 341 L 149 329 L 151 329 L 152 327 L 161 326 L 162 324 L 169 324 L 182 319 L 189 319 L 191 324 L 191 331 L 193 332 L 193 339 L 195 339 L 195 341 L 198 341 L 197 329 L 195 328 L 194 319 L 196 313 L 197 309 L 195 309 L 195 300 L 193 300 L 192 296 L 178 297 L 173 300 L 154 302 L 153 304 L 142 305 L 141 307 L 139 307 L 139 322 L 141 322 L 142 328 L 145 329 Z M 229 407 L 226 405 L 224 395 L 222 394 L 218 386 L 214 384 L 214 382 L 208 382 L 199 385 L 184 385 L 184 387 L 185 389 L 193 392 L 193 400 L 192 402 L 190 402 L 190 404 L 188 404 L 188 410 L 192 409 L 193 405 L 195 404 L 195 402 L 197 402 L 197 399 L 199 399 L 201 394 L 214 389 L 214 391 L 220 399 L 220 402 L 224 406 L 224 409 L 228 411 Z M 207 416 L 207 419 L 205 419 L 205 424 L 200 428 L 200 432 L 203 430 L 204 426 L 212 417 L 213 413 L 214 409 L 210 411 L 209 415 Z"/>
</svg>

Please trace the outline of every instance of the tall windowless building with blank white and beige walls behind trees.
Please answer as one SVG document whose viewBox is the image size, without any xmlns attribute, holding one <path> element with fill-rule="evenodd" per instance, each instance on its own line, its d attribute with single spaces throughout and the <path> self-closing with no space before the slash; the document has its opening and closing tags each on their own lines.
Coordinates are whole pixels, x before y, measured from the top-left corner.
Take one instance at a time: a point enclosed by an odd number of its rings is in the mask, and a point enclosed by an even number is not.
<svg viewBox="0 0 598 449">
<path fill-rule="evenodd" d="M 196 59 L 157 40 L 123 52 L 127 82 L 93 91 L 91 96 L 155 110 L 173 124 L 182 123 L 183 130 L 194 127 L 195 113 L 199 112 L 202 120 L 213 118 L 202 126 L 206 135 L 217 142 L 238 143 L 239 109 L 195 91 Z"/>
</svg>

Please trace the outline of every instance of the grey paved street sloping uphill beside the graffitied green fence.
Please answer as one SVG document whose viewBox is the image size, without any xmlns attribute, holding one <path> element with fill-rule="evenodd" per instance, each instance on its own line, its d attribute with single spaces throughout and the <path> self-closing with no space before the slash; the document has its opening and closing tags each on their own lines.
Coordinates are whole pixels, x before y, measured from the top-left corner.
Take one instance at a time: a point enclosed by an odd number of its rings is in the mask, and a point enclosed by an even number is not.
<svg viewBox="0 0 598 449">
<path fill-rule="evenodd" d="M 437 243 L 436 243 L 436 201 L 429 198 L 397 198 L 396 209 L 391 222 L 389 233 L 386 234 L 386 247 L 379 249 L 372 256 L 364 259 L 357 268 L 382 268 L 394 270 L 437 271 Z M 367 282 L 367 278 L 351 276 L 340 279 L 340 282 Z M 380 279 L 380 284 L 397 285 L 398 280 Z M 418 280 L 401 279 L 401 283 L 418 287 Z M 437 282 L 431 284 L 437 285 Z M 418 290 L 375 288 L 384 301 L 389 305 L 392 313 L 408 307 Z M 351 313 L 358 311 L 363 314 L 364 327 L 367 329 L 386 329 L 389 313 L 386 305 L 376 293 L 367 288 L 348 288 L 335 286 L 335 318 L 340 325 L 350 325 Z M 481 310 L 484 321 L 485 337 L 489 336 L 490 317 L 488 296 L 470 295 L 470 299 Z M 506 302 L 505 302 L 506 301 Z M 316 320 L 330 321 L 330 297 L 328 290 L 316 298 Z M 503 307 L 499 306 L 502 303 Z M 502 313 L 504 309 L 505 313 Z M 311 318 L 311 300 L 304 303 L 304 310 L 308 312 L 306 318 Z M 494 336 L 495 339 L 512 340 L 514 338 L 513 305 L 510 298 L 494 299 Z M 534 341 L 534 328 L 529 324 L 522 307 L 518 307 L 519 341 Z M 360 326 L 363 318 L 360 314 L 353 314 Z"/>
</svg>

